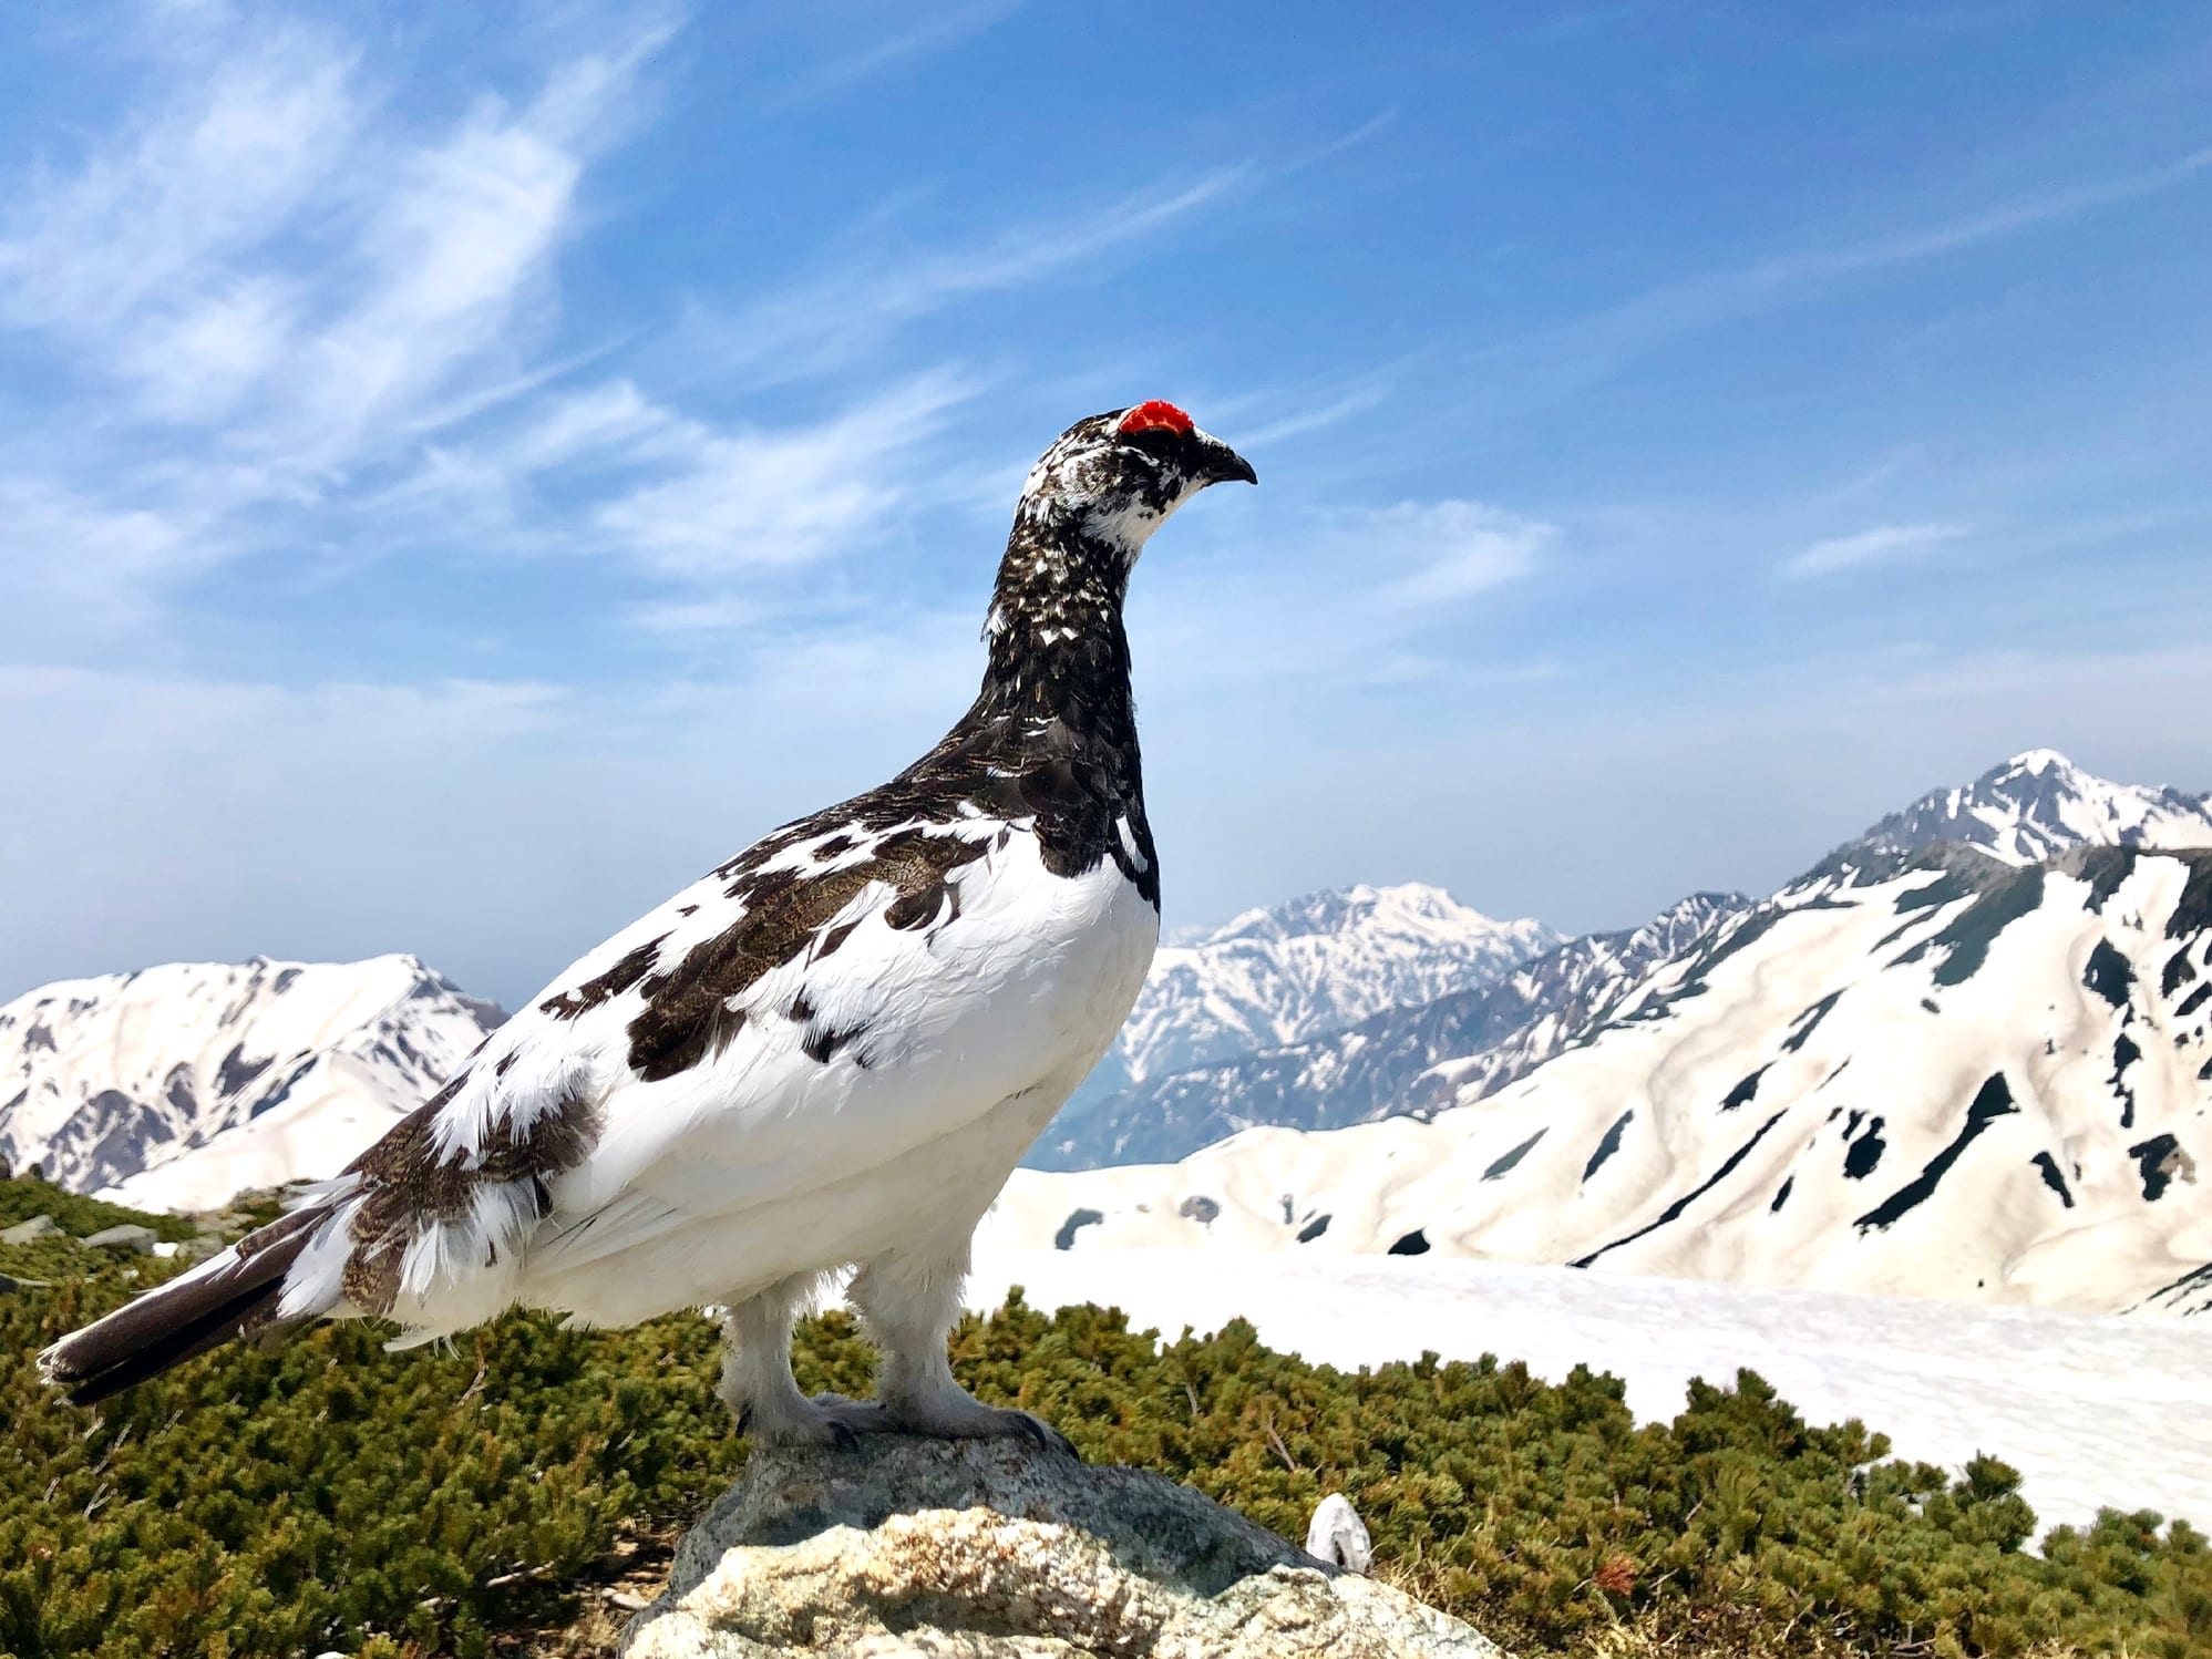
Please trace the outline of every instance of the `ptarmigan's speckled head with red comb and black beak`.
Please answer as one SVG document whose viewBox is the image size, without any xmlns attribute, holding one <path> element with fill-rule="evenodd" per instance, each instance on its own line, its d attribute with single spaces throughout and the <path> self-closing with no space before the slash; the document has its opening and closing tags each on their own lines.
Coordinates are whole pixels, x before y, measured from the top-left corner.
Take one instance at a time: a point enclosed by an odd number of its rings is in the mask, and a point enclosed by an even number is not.
<svg viewBox="0 0 2212 1659">
<path fill-rule="evenodd" d="M 1075 533 L 1137 562 L 1168 513 L 1208 484 L 1241 478 L 1252 462 L 1199 427 L 1172 403 L 1077 420 L 1044 451 L 1022 487 L 1020 515 L 1037 529 Z"/>
</svg>

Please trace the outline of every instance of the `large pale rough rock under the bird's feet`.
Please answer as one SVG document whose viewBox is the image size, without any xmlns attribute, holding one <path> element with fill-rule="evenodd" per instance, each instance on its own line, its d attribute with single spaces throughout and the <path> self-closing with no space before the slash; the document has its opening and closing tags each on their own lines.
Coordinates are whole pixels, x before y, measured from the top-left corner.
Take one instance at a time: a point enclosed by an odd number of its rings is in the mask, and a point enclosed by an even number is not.
<svg viewBox="0 0 2212 1659">
<path fill-rule="evenodd" d="M 1190 1486 L 1006 1440 L 754 1451 L 626 1659 L 1502 1659 Z"/>
</svg>

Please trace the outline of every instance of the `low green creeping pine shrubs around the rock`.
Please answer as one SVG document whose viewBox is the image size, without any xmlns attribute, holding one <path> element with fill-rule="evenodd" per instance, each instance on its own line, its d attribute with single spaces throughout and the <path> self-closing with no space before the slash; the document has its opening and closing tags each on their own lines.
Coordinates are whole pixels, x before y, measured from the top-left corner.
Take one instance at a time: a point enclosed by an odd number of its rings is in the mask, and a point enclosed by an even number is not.
<svg viewBox="0 0 2212 1659">
<path fill-rule="evenodd" d="M 0 1217 L 73 1230 L 164 1217 L 0 1183 Z M 509 1316 L 447 1352 L 365 1325 L 230 1347 L 97 1411 L 33 1354 L 175 1272 L 75 1245 L 0 1248 L 0 1655 L 524 1652 L 617 1533 L 670 1537 L 745 1444 L 697 1316 L 573 1334 Z M 137 1274 L 137 1279 L 133 1279 Z M 2212 1655 L 2212 1553 L 2183 1522 L 2106 1513 L 2022 1546 L 2017 1475 L 1887 1462 L 1858 1422 L 1809 1427 L 1750 1371 L 1637 1427 L 1610 1376 L 1427 1356 L 1343 1374 L 1234 1323 L 1159 1343 L 1117 1312 L 1020 1296 L 953 1338 L 987 1400 L 1095 1462 L 1157 1469 L 1303 1535 L 1345 1491 L 1378 1571 L 1526 1655 Z M 845 1316 L 801 1327 L 799 1380 L 858 1394 Z"/>
</svg>

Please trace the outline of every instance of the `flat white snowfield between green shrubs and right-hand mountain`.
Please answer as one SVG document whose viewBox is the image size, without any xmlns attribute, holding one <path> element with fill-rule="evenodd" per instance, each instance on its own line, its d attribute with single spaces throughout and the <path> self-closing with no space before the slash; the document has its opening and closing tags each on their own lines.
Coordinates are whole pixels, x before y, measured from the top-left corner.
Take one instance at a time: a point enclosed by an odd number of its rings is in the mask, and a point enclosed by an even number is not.
<svg viewBox="0 0 2212 1659">
<path fill-rule="evenodd" d="M 2028 1307 L 1754 1290 L 1442 1256 L 1230 1250 L 980 1250 L 969 1305 L 1009 1285 L 1053 1310 L 1121 1307 L 1175 1338 L 1250 1321 L 1270 1347 L 1360 1367 L 1436 1349 L 1495 1354 L 1559 1380 L 1628 1385 L 1639 1420 L 1672 1418 L 1692 1376 L 1759 1371 L 1809 1422 L 1860 1418 L 1893 1455 L 2022 1471 L 2044 1526 L 2097 1509 L 2212 1524 L 2212 1327 Z"/>
</svg>

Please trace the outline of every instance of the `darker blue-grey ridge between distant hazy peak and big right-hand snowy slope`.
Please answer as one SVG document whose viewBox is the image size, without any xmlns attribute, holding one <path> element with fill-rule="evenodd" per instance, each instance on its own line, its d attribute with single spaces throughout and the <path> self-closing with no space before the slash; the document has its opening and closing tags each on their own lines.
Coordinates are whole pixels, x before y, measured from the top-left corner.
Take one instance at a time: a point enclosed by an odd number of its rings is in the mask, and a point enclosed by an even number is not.
<svg viewBox="0 0 2212 1659">
<path fill-rule="evenodd" d="M 1340 1128 L 1502 1088 L 1579 1040 L 1741 894 L 1694 894 L 1641 927 L 1568 940 L 1502 978 L 1391 1006 L 1345 1031 L 1079 1095 L 1031 1152 L 1042 1170 L 1186 1157 L 1254 1124 Z M 1478 1088 L 1480 1079 L 1480 1088 Z"/>
</svg>

